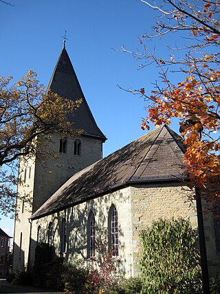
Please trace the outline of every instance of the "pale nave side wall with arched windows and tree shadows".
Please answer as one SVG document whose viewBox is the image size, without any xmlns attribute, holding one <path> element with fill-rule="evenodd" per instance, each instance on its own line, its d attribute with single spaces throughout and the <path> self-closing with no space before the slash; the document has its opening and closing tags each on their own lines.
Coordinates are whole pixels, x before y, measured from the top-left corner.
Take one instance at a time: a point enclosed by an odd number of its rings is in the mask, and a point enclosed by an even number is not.
<svg viewBox="0 0 220 294">
<path fill-rule="evenodd" d="M 34 246 L 36 246 L 37 227 L 43 228 L 44 242 L 48 238 L 48 226 L 54 223 L 54 247 L 56 255 L 61 253 L 61 222 L 67 220 L 67 251 L 64 255 L 66 260 L 80 258 L 87 261 L 87 220 L 89 211 L 93 211 L 96 221 L 96 236 L 101 241 L 103 232 L 108 229 L 108 214 L 113 204 L 118 210 L 119 228 L 119 257 L 114 260 L 120 275 L 131 277 L 133 275 L 133 256 L 131 252 L 131 207 L 130 188 L 109 193 L 100 198 L 89 200 L 76 207 L 71 207 L 32 222 L 32 264 L 34 262 Z M 108 246 L 108 244 L 106 244 Z M 96 258 L 98 258 L 96 254 Z M 96 263 L 95 263 L 96 264 Z"/>
</svg>

